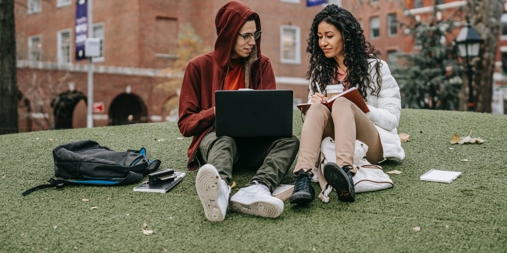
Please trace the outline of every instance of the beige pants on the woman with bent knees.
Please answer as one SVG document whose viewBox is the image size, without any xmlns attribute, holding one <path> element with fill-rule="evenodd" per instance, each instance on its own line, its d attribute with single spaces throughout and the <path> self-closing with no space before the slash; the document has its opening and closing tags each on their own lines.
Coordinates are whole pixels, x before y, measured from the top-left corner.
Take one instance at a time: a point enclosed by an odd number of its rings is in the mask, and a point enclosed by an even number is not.
<svg viewBox="0 0 507 253">
<path fill-rule="evenodd" d="M 340 167 L 353 166 L 356 139 L 368 145 L 368 161 L 376 164 L 383 160 L 382 144 L 375 125 L 354 103 L 338 98 L 331 111 L 323 104 L 313 103 L 306 112 L 294 174 L 301 168 L 314 170 L 319 159 L 320 143 L 328 136 L 335 140 L 336 163 Z M 355 174 L 355 168 L 350 172 Z"/>
</svg>

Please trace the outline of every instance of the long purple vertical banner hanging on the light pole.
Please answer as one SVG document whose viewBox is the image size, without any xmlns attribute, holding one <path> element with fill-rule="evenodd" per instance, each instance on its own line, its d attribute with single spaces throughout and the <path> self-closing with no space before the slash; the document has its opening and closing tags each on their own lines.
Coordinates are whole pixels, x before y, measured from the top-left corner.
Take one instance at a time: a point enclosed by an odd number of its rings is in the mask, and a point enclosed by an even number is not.
<svg viewBox="0 0 507 253">
<path fill-rule="evenodd" d="M 85 41 L 88 37 L 88 1 L 76 0 L 76 26 L 74 27 L 76 44 L 76 61 L 86 59 Z"/>
</svg>

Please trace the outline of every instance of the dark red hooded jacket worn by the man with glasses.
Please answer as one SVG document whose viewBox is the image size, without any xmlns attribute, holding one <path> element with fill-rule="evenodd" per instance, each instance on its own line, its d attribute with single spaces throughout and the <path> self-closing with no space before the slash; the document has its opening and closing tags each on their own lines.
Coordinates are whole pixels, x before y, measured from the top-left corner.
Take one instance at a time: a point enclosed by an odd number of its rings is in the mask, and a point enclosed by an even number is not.
<svg viewBox="0 0 507 253">
<path fill-rule="evenodd" d="M 199 143 L 207 133 L 214 131 L 214 92 L 224 90 L 225 77 L 232 69 L 231 53 L 239 29 L 252 14 L 257 13 L 238 1 L 231 1 L 220 8 L 215 18 L 217 38 L 214 50 L 190 60 L 185 70 L 179 95 L 178 128 L 183 136 L 193 137 L 187 152 L 190 171 L 199 166 L 196 160 Z M 255 19 L 255 23 L 257 30 L 261 30 L 259 18 Z M 244 71 L 248 88 L 276 89 L 271 62 L 261 54 L 261 37 L 245 59 Z"/>
</svg>

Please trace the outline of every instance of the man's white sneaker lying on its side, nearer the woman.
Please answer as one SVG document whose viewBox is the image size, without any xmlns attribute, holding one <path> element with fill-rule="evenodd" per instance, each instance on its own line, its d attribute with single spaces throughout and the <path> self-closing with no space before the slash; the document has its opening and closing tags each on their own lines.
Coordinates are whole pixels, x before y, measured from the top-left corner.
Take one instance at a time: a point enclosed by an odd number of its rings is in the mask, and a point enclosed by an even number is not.
<svg viewBox="0 0 507 253">
<path fill-rule="evenodd" d="M 283 201 L 271 196 L 269 190 L 255 184 L 241 188 L 232 195 L 231 208 L 238 213 L 276 218 L 283 212 Z"/>
</svg>

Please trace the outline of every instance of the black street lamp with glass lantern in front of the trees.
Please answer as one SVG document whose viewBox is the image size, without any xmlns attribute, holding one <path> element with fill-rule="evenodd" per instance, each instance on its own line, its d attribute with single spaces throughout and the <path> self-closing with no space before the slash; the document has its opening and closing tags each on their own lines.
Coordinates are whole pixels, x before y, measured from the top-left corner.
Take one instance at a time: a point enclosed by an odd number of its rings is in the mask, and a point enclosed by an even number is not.
<svg viewBox="0 0 507 253">
<path fill-rule="evenodd" d="M 461 28 L 458 36 L 455 39 L 458 45 L 459 55 L 462 58 L 466 58 L 466 74 L 468 75 L 468 110 L 474 110 L 474 90 L 472 87 L 472 65 L 470 65 L 468 58 L 474 58 L 479 56 L 479 49 L 484 39 L 481 38 L 479 32 L 470 25 L 468 19 L 466 20 L 466 26 Z"/>
</svg>

